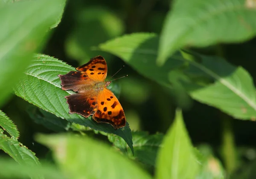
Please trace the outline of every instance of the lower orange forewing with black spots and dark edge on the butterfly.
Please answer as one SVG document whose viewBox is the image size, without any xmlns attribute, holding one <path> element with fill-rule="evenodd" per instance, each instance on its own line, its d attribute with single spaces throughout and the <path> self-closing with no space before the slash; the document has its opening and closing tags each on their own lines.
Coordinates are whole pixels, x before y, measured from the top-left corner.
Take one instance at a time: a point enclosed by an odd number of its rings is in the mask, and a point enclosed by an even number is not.
<svg viewBox="0 0 256 179">
<path fill-rule="evenodd" d="M 125 113 L 116 96 L 107 88 L 99 92 L 97 97 L 98 109 L 93 115 L 96 122 L 111 124 L 114 129 L 125 126 Z"/>
</svg>

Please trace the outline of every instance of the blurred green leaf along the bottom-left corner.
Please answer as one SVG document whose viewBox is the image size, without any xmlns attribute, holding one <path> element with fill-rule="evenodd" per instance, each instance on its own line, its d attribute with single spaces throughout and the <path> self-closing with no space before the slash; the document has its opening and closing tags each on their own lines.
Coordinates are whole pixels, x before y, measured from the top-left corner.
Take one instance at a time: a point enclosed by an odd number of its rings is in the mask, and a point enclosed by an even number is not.
<svg viewBox="0 0 256 179">
<path fill-rule="evenodd" d="M 14 160 L 1 157 L 0 160 L 1 179 L 24 179 L 28 177 L 36 178 L 38 174 L 45 179 L 67 179 L 54 165 L 20 165 Z"/>
</svg>

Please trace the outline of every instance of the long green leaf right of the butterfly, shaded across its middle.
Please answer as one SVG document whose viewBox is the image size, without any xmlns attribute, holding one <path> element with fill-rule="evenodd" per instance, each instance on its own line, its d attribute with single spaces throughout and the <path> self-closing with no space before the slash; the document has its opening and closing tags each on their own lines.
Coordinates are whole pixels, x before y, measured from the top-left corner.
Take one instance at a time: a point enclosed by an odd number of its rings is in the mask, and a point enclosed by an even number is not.
<svg viewBox="0 0 256 179">
<path fill-rule="evenodd" d="M 155 65 L 157 41 L 155 34 L 137 33 L 116 38 L 99 48 L 122 58 L 140 74 L 170 90 L 175 87 L 173 84 L 180 84 L 193 99 L 238 119 L 255 119 L 255 87 L 244 68 L 230 65 L 219 57 L 185 51 L 184 57 L 177 52 L 158 67 Z"/>
</svg>

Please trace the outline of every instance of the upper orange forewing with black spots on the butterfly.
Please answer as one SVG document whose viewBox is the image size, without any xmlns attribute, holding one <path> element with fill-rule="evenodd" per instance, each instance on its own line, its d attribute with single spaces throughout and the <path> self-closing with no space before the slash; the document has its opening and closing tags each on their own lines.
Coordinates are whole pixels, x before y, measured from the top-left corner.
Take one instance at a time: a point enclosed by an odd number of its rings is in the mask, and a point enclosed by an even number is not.
<svg viewBox="0 0 256 179">
<path fill-rule="evenodd" d="M 108 66 L 102 56 L 97 56 L 91 58 L 88 63 L 77 67 L 76 70 L 83 71 L 91 80 L 103 82 L 107 77 Z"/>
</svg>

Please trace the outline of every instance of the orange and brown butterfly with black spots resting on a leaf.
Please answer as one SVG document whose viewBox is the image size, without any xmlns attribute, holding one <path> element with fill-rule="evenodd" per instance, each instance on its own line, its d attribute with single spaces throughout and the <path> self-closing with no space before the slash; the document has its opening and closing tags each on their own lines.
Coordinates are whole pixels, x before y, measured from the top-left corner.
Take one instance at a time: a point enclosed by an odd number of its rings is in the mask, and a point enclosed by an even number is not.
<svg viewBox="0 0 256 179">
<path fill-rule="evenodd" d="M 107 77 L 107 63 L 102 56 L 97 56 L 84 65 L 58 77 L 61 80 L 62 90 L 78 92 L 66 96 L 69 105 L 69 114 L 80 114 L 84 117 L 93 115 L 96 122 L 105 122 L 115 130 L 125 126 L 124 110 L 107 86 L 111 81 Z"/>
</svg>

